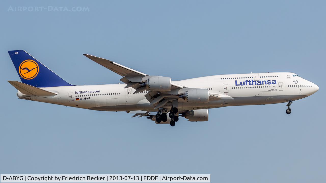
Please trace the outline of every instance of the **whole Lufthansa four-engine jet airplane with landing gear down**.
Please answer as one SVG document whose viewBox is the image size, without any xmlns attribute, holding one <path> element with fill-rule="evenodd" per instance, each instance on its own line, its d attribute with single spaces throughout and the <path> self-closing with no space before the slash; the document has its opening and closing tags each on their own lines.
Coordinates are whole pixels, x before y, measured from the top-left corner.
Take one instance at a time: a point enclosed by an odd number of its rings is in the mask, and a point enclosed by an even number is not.
<svg viewBox="0 0 326 183">
<path fill-rule="evenodd" d="M 22 82 L 8 81 L 25 100 L 99 111 L 126 111 L 157 124 L 175 125 L 179 116 L 207 121 L 208 109 L 226 106 L 291 104 L 319 87 L 291 72 L 227 74 L 172 81 L 110 60 L 83 54 L 120 75 L 123 84 L 75 86 L 24 50 L 8 51 Z M 28 72 L 25 72 L 28 71 Z"/>
</svg>

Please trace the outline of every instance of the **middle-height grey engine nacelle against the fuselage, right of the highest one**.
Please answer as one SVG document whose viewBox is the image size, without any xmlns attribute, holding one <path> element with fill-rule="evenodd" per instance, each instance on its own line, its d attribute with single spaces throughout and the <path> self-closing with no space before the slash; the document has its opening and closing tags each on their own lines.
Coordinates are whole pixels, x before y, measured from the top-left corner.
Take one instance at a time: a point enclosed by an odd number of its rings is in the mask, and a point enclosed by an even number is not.
<svg viewBox="0 0 326 183">
<path fill-rule="evenodd" d="M 189 88 L 179 98 L 191 103 L 208 103 L 209 91 L 206 89 Z"/>
</svg>

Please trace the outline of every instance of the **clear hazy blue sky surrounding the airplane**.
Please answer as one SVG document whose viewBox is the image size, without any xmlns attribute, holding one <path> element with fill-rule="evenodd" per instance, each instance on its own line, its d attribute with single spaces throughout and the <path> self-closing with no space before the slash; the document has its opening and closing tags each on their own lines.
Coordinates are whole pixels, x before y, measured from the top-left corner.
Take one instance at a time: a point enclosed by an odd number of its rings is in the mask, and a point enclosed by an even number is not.
<svg viewBox="0 0 326 183">
<path fill-rule="evenodd" d="M 325 1 L 1 1 L 1 174 L 211 174 L 212 182 L 325 182 Z M 89 11 L 8 11 L 9 7 Z M 125 112 L 20 100 L 7 50 L 75 85 L 120 76 L 83 53 L 181 80 L 294 72 L 319 91 L 209 110 L 175 127 Z"/>
</svg>

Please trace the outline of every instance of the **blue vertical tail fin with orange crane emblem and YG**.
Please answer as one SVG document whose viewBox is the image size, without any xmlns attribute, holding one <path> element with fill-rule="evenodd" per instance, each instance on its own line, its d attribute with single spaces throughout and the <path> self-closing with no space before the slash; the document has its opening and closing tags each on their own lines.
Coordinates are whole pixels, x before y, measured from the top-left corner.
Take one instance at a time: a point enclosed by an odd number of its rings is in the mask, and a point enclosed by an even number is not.
<svg viewBox="0 0 326 183">
<path fill-rule="evenodd" d="M 22 83 L 35 87 L 72 86 L 24 50 L 8 51 Z"/>
</svg>

